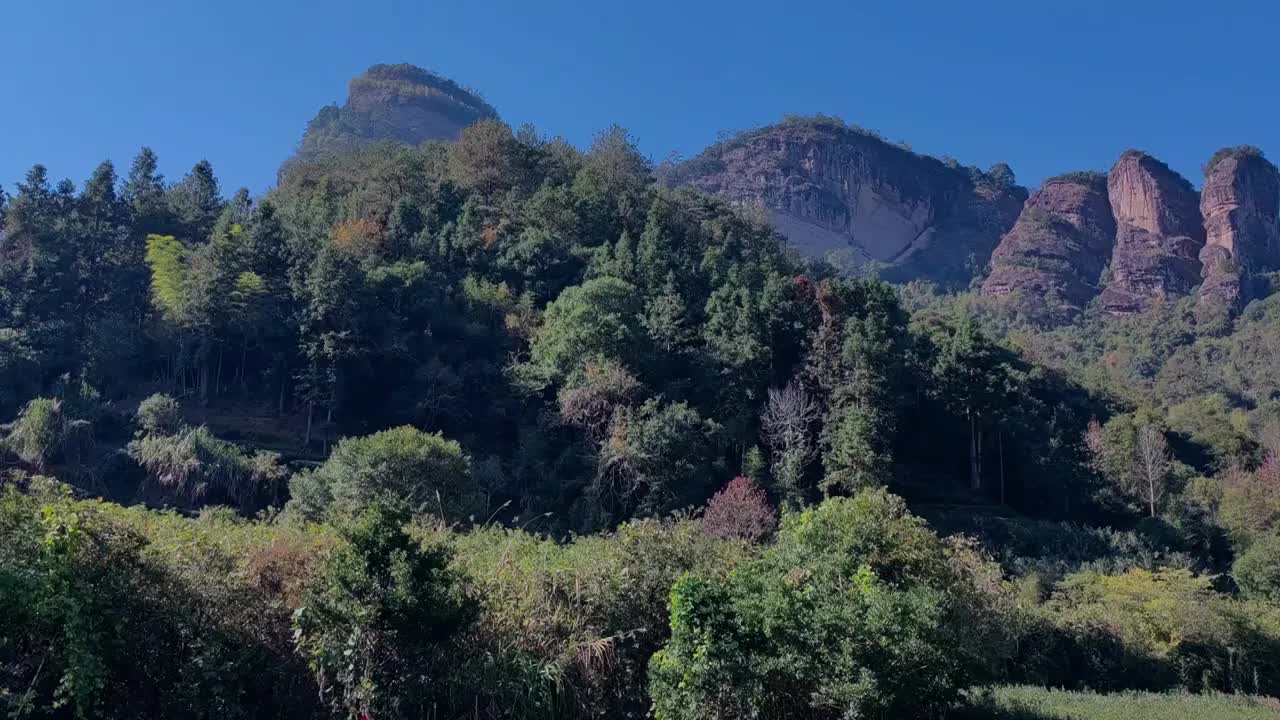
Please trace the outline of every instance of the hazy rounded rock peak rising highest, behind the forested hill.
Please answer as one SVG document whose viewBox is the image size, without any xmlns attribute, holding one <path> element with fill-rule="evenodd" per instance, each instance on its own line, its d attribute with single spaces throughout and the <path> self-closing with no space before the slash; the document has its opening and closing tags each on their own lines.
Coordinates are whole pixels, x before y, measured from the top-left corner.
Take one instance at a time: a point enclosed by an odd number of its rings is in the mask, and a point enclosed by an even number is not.
<svg viewBox="0 0 1280 720">
<path fill-rule="evenodd" d="M 294 161 L 381 140 L 456 140 L 465 127 L 497 117 L 475 92 L 448 78 L 413 65 L 374 65 L 351 81 L 346 105 L 323 108 L 307 124 Z"/>
</svg>

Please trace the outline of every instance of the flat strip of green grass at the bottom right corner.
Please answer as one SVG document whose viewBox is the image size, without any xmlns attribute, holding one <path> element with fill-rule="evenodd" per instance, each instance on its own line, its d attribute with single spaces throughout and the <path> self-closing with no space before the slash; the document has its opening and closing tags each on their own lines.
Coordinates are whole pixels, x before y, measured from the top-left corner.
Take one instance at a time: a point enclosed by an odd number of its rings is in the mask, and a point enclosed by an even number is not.
<svg viewBox="0 0 1280 720">
<path fill-rule="evenodd" d="M 955 720 L 1275 720 L 1275 698 L 1187 694 L 1052 691 L 1004 687 L 980 691 Z"/>
</svg>

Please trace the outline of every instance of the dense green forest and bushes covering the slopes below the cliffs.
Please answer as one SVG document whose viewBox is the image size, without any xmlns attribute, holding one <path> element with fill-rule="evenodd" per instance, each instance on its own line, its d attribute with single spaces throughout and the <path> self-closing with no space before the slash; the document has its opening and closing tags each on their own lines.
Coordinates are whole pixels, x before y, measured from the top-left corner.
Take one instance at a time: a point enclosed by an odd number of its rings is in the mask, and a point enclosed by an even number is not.
<svg viewBox="0 0 1280 720">
<path fill-rule="evenodd" d="M 0 711 L 1280 696 L 1280 295 L 1044 328 L 654 177 L 483 120 L 0 195 Z"/>
</svg>

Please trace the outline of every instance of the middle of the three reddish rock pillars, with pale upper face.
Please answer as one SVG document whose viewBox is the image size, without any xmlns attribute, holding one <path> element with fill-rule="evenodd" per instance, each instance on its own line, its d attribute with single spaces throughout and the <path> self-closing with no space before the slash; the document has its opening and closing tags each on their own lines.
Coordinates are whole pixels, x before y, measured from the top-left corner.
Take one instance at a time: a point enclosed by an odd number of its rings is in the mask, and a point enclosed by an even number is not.
<svg viewBox="0 0 1280 720">
<path fill-rule="evenodd" d="M 1111 281 L 1102 292 L 1108 313 L 1138 313 L 1199 284 L 1204 227 L 1199 196 L 1185 178 L 1130 150 L 1107 174 L 1107 196 L 1116 223 Z"/>
</svg>

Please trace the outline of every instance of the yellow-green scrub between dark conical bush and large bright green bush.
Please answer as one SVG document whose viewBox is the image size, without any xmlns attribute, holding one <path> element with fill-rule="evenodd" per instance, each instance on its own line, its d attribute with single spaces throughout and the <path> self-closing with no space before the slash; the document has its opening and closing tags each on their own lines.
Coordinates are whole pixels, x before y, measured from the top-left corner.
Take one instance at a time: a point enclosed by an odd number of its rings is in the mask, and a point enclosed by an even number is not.
<svg viewBox="0 0 1280 720">
<path fill-rule="evenodd" d="M 686 519 L 636 520 L 568 543 L 498 528 L 452 542 L 483 606 L 460 661 L 481 716 L 508 717 L 645 716 L 672 584 L 685 573 L 724 575 L 749 551 Z M 495 675 L 495 665 L 513 671 Z"/>
</svg>

